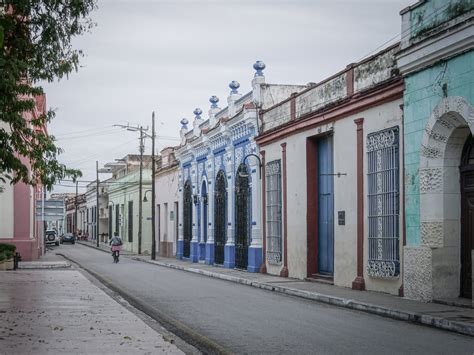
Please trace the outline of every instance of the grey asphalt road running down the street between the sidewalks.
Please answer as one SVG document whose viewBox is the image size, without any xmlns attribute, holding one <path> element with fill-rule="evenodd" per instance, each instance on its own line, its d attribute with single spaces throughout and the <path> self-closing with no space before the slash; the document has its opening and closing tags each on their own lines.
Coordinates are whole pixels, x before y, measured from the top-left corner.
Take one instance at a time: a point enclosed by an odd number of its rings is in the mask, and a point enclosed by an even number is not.
<svg viewBox="0 0 474 355">
<path fill-rule="evenodd" d="M 290 297 L 82 245 L 55 249 L 233 353 L 473 354 L 474 339 Z"/>
</svg>

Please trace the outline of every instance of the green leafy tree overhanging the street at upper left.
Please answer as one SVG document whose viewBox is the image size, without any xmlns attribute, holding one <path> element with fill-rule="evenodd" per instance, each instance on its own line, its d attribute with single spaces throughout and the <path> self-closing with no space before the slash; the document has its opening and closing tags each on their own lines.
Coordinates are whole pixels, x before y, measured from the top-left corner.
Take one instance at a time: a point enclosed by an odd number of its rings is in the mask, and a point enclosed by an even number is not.
<svg viewBox="0 0 474 355">
<path fill-rule="evenodd" d="M 61 148 L 43 130 L 55 113 L 35 117 L 41 81 L 64 78 L 77 71 L 82 51 L 71 40 L 89 31 L 96 0 L 0 0 L 0 180 L 48 189 L 79 170 L 58 162 Z M 21 157 L 30 163 L 31 172 Z"/>
</svg>

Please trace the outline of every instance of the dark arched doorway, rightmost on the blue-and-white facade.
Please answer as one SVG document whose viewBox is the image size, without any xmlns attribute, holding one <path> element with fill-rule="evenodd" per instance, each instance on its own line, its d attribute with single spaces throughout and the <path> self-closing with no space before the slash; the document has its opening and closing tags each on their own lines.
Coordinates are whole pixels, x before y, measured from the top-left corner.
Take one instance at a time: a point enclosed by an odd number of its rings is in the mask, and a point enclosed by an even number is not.
<svg viewBox="0 0 474 355">
<path fill-rule="evenodd" d="M 250 189 L 249 173 L 240 164 L 235 178 L 235 267 L 247 269 L 250 240 Z"/>
</svg>

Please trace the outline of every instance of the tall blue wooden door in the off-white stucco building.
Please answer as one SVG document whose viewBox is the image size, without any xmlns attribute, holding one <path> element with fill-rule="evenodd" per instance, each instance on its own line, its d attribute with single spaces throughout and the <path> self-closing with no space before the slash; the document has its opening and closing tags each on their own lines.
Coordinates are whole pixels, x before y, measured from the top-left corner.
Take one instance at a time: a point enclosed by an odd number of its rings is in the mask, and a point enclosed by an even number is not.
<svg viewBox="0 0 474 355">
<path fill-rule="evenodd" d="M 334 273 L 334 183 L 332 137 L 318 141 L 318 273 Z"/>
</svg>

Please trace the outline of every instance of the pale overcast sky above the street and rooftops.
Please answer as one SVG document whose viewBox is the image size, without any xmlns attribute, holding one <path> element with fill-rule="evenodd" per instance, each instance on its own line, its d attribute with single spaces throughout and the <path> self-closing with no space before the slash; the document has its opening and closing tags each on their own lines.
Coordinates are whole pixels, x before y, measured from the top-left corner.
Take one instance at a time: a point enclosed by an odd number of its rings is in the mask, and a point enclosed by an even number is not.
<svg viewBox="0 0 474 355">
<path fill-rule="evenodd" d="M 96 160 L 138 152 L 138 133 L 113 125 L 151 129 L 153 110 L 158 151 L 178 144 L 179 121 L 194 108 L 207 117 L 212 95 L 225 107 L 232 80 L 250 90 L 256 60 L 269 83 L 318 82 L 396 42 L 399 12 L 414 2 L 99 0 L 97 27 L 74 41 L 86 53 L 82 68 L 44 85 L 60 161 L 94 180 Z M 72 183 L 55 188 L 64 191 Z"/>
</svg>

